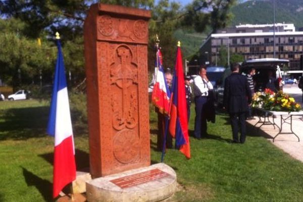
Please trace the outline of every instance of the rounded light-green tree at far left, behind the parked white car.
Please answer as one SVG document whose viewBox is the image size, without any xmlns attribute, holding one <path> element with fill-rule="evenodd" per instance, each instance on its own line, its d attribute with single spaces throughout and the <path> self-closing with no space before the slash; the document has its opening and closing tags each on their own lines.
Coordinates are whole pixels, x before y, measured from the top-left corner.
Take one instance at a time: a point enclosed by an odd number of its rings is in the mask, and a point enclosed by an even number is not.
<svg viewBox="0 0 303 202">
<path fill-rule="evenodd" d="M 40 71 L 53 72 L 55 52 L 49 41 L 39 45 L 37 39 L 29 39 L 20 33 L 24 23 L 16 20 L 0 20 L 0 78 L 7 84 L 18 87 L 38 83 Z"/>
</svg>

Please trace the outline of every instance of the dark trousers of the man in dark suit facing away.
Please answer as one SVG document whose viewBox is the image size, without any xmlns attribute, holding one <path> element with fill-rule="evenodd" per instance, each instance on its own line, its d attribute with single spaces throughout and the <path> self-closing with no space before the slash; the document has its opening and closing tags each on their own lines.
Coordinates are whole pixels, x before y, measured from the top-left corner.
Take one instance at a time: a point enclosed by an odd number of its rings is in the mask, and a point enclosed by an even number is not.
<svg viewBox="0 0 303 202">
<path fill-rule="evenodd" d="M 239 141 L 239 126 L 240 126 L 240 142 L 244 143 L 246 138 L 246 123 L 245 123 L 245 113 L 246 112 L 239 112 L 239 113 L 230 113 L 230 122 L 231 122 L 231 129 L 232 129 L 232 137 L 234 141 Z"/>
</svg>

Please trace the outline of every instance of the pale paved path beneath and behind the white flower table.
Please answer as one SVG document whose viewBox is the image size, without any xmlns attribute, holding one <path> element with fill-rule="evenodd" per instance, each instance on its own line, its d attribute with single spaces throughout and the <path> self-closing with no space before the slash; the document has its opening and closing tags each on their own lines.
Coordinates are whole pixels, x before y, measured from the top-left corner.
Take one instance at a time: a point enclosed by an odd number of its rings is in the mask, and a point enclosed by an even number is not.
<svg viewBox="0 0 303 202">
<path fill-rule="evenodd" d="M 296 102 L 301 103 L 302 106 L 302 91 L 297 85 L 285 85 L 283 91 L 293 96 Z M 258 118 L 255 120 L 247 121 L 248 123 L 255 125 L 258 122 Z M 270 119 L 272 121 L 272 119 Z M 303 162 L 303 117 L 293 116 L 292 130 L 299 136 L 300 141 L 293 134 L 280 134 L 272 141 L 272 138 L 279 132 L 279 129 L 272 125 L 263 125 L 261 130 L 264 131 L 268 136 L 266 138 L 271 141 L 277 147 L 283 149 L 287 154 L 293 158 Z M 280 117 L 275 118 L 275 123 L 280 127 Z M 260 125 L 260 124 L 259 124 Z M 282 132 L 290 132 L 290 125 L 283 124 Z"/>
</svg>

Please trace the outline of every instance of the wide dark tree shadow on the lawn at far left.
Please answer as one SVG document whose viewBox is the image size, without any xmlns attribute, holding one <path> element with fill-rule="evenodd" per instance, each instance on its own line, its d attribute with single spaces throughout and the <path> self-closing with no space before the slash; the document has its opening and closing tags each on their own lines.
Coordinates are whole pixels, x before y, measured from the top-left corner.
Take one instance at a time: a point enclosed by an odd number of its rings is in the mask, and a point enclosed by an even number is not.
<svg viewBox="0 0 303 202">
<path fill-rule="evenodd" d="M 44 137 L 47 127 L 48 107 L 18 108 L 0 112 L 0 140 Z"/>
</svg>

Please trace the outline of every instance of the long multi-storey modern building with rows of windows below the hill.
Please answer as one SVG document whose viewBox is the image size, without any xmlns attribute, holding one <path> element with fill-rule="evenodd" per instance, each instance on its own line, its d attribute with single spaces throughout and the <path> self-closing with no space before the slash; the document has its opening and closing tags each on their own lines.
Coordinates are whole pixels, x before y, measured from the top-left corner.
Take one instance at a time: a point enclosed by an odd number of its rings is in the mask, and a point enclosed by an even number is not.
<svg viewBox="0 0 303 202">
<path fill-rule="evenodd" d="M 200 46 L 200 64 L 216 66 L 222 46 L 227 48 L 228 62 L 229 56 L 235 53 L 243 55 L 245 60 L 288 59 L 289 71 L 301 70 L 303 31 L 295 31 L 293 24 L 245 24 L 218 30 Z"/>
</svg>

